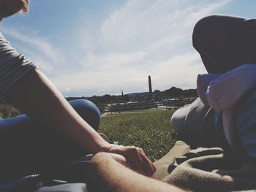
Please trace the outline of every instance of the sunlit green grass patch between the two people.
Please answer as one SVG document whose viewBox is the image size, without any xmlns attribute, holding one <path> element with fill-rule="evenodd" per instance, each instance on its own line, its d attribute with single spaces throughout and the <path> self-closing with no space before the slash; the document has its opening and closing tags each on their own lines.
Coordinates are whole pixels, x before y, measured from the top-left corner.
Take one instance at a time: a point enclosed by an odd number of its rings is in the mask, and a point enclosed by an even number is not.
<svg viewBox="0 0 256 192">
<path fill-rule="evenodd" d="M 152 161 L 165 155 L 174 142 L 176 132 L 170 127 L 174 110 L 142 110 L 113 113 L 102 117 L 99 131 L 118 145 L 142 147 Z"/>
</svg>

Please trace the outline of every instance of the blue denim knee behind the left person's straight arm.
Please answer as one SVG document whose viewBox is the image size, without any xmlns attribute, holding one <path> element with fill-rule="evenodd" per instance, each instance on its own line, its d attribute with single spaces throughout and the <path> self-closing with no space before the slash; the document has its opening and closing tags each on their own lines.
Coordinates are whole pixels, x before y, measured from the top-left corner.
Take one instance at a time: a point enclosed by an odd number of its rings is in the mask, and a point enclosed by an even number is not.
<svg viewBox="0 0 256 192">
<path fill-rule="evenodd" d="M 75 109 L 76 112 L 80 115 L 83 120 L 86 120 L 87 123 L 95 130 L 99 128 L 100 112 L 97 106 L 86 99 L 77 99 L 69 101 L 69 104 Z"/>
</svg>

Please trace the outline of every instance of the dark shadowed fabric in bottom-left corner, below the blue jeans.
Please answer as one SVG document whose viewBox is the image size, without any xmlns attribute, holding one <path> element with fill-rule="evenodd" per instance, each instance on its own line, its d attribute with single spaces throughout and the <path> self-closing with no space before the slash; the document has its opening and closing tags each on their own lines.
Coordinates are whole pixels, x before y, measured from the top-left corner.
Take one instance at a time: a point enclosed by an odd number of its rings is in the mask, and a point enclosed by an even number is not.
<svg viewBox="0 0 256 192">
<path fill-rule="evenodd" d="M 34 192 L 38 191 L 86 191 L 86 185 L 91 180 L 93 167 L 89 163 L 92 154 L 74 158 L 67 164 L 53 166 L 48 171 L 30 174 L 5 183 L 0 183 L 1 192 Z M 66 188 L 67 187 L 67 188 Z"/>
</svg>

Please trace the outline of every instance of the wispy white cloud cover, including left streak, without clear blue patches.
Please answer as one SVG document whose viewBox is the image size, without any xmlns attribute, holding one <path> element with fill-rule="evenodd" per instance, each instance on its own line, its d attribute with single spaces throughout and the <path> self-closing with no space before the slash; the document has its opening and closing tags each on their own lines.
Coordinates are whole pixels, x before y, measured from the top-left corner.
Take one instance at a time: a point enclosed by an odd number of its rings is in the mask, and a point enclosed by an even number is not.
<svg viewBox="0 0 256 192">
<path fill-rule="evenodd" d="M 27 44 L 23 50 L 66 96 L 144 91 L 149 74 L 153 89 L 195 88 L 197 74 L 206 71 L 192 48 L 192 28 L 228 2 L 128 0 L 100 22 L 74 20 L 69 49 L 56 49 L 38 34 L 4 32 Z"/>
</svg>

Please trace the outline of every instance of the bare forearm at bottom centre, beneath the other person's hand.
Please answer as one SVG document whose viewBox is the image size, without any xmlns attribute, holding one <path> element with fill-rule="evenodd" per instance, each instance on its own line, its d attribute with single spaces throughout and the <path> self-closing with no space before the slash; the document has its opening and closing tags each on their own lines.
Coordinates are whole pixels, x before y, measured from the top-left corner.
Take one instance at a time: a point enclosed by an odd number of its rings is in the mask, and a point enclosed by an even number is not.
<svg viewBox="0 0 256 192">
<path fill-rule="evenodd" d="M 118 162 L 119 161 L 119 162 Z M 128 169 L 125 159 L 115 158 L 110 153 L 97 153 L 91 160 L 92 175 L 87 183 L 89 191 L 105 192 L 167 192 L 183 191 Z"/>
</svg>

